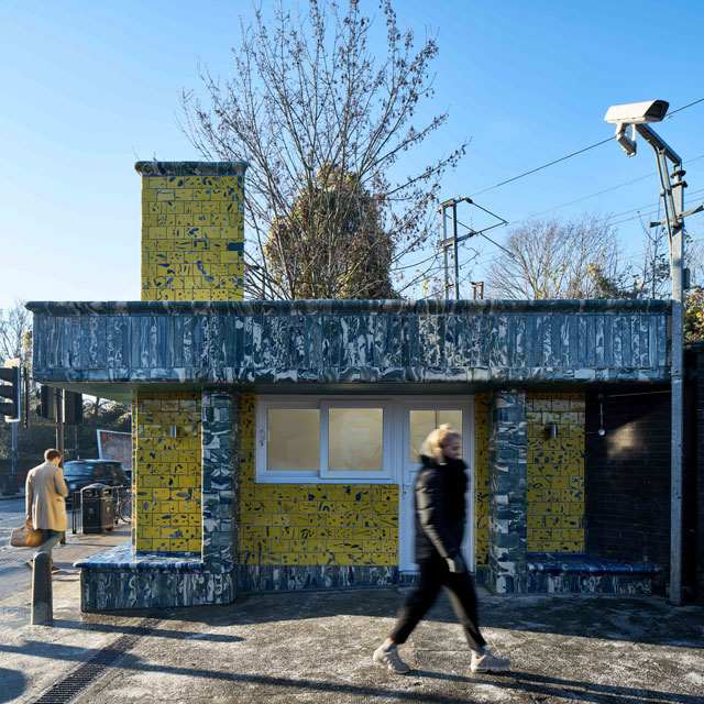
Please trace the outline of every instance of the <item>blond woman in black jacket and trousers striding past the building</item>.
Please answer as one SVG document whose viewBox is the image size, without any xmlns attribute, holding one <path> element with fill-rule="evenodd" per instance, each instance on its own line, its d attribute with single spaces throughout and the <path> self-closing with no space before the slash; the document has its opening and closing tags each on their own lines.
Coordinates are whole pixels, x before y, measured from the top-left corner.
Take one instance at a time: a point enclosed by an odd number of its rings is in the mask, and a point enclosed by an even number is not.
<svg viewBox="0 0 704 704">
<path fill-rule="evenodd" d="M 433 430 L 424 444 L 422 468 L 416 480 L 416 562 L 420 576 L 402 606 L 388 638 L 373 660 L 392 672 L 405 674 L 410 668 L 399 658 L 396 646 L 406 642 L 413 629 L 444 587 L 458 615 L 470 649 L 472 672 L 504 672 L 510 662 L 493 656 L 480 632 L 476 595 L 460 547 L 464 532 L 466 464 L 461 458 L 462 439 L 450 426 Z"/>
</svg>

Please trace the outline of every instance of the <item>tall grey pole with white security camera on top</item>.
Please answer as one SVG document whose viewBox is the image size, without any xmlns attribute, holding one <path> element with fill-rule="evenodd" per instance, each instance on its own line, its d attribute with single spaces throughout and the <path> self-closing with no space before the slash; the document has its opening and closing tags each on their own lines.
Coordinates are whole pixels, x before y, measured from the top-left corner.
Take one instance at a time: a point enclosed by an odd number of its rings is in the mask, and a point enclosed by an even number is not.
<svg viewBox="0 0 704 704">
<path fill-rule="evenodd" d="M 670 240 L 670 278 L 672 280 L 672 442 L 670 471 L 670 594 L 675 606 L 682 604 L 682 417 L 683 417 L 683 366 L 684 366 L 684 288 L 683 268 L 684 218 L 704 209 L 703 206 L 684 212 L 684 169 L 682 160 L 648 122 L 660 122 L 669 103 L 650 100 L 623 106 L 612 106 L 604 120 L 616 125 L 616 139 L 628 156 L 636 154 L 636 133 L 640 134 L 656 152 L 664 218 L 651 222 L 650 227 L 666 224 Z M 631 136 L 626 129 L 631 128 Z M 672 176 L 668 173 L 668 160 L 672 163 Z M 672 180 L 670 180 L 672 178 Z M 689 274 L 689 270 L 686 271 Z"/>
</svg>

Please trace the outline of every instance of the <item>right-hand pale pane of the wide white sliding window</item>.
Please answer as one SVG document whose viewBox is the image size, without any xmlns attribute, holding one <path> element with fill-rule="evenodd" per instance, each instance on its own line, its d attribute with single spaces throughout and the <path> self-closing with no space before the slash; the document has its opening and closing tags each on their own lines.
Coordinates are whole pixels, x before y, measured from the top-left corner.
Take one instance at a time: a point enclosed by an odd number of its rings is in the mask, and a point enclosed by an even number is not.
<svg viewBox="0 0 704 704">
<path fill-rule="evenodd" d="M 383 471 L 382 408 L 330 408 L 328 422 L 329 472 Z"/>
</svg>

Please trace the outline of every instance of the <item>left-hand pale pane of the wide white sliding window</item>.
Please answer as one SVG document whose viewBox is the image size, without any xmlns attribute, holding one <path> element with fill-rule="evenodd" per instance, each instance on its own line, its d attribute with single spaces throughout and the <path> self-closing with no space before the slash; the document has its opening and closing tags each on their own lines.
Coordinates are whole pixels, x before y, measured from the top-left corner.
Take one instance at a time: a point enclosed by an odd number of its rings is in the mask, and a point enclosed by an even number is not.
<svg viewBox="0 0 704 704">
<path fill-rule="evenodd" d="M 317 408 L 270 408 L 266 411 L 266 469 L 320 469 L 320 411 Z"/>
</svg>

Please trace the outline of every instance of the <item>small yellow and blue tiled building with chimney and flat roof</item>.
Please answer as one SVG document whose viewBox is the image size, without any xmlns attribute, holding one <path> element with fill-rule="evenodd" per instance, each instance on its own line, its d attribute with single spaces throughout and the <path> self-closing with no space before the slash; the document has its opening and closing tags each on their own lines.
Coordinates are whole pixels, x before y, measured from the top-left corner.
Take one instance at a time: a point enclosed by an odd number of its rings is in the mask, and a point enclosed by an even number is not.
<svg viewBox="0 0 704 704">
<path fill-rule="evenodd" d="M 585 460 L 597 393 L 667 388 L 667 302 L 243 301 L 245 165 L 136 168 L 142 301 L 28 306 L 37 381 L 133 408 L 133 539 L 81 564 L 85 609 L 413 580 L 417 453 L 446 421 L 481 583 L 667 573 L 587 554 Z"/>
</svg>

